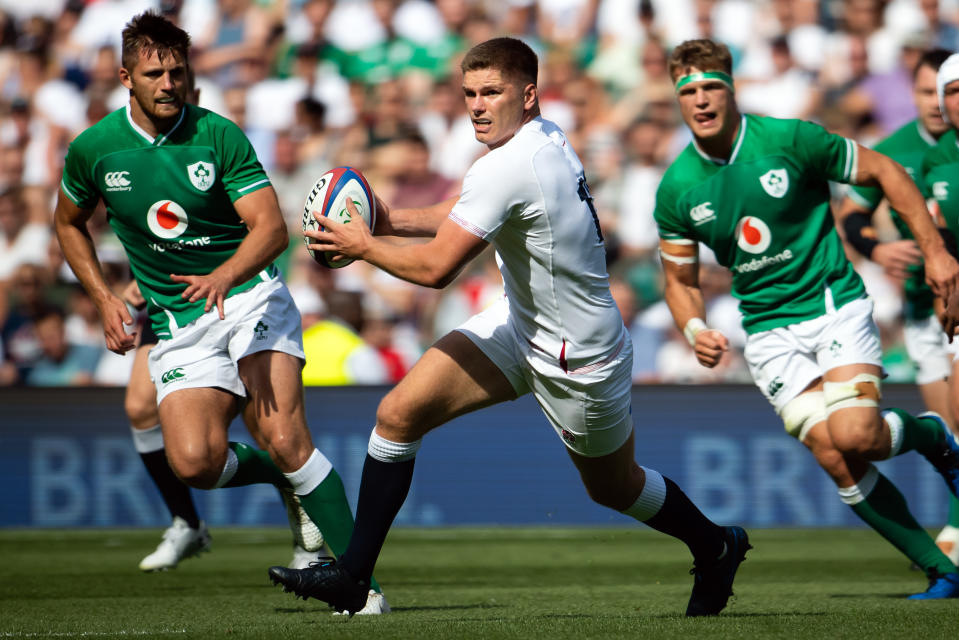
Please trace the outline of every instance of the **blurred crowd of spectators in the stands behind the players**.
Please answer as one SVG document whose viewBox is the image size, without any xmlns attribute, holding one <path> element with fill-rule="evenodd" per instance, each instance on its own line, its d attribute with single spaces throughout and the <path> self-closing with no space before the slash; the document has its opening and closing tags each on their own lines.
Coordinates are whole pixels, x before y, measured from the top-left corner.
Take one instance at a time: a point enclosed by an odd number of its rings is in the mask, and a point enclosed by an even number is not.
<svg viewBox="0 0 959 640">
<path fill-rule="evenodd" d="M 720 40 L 734 52 L 744 111 L 814 120 L 867 145 L 915 117 L 919 53 L 959 49 L 959 0 L 0 0 L 0 385 L 129 378 L 131 358 L 105 349 L 52 216 L 70 141 L 127 102 L 120 32 L 146 9 L 191 34 L 200 106 L 246 131 L 276 187 L 291 236 L 280 267 L 303 315 L 308 384 L 395 382 L 502 295 L 490 251 L 434 291 L 363 263 L 319 267 L 299 233 L 306 194 L 334 166 L 360 168 L 393 207 L 458 192 L 485 150 L 459 88 L 459 58 L 473 44 L 512 35 L 539 54 L 543 115 L 567 132 L 595 196 L 634 378 L 683 383 L 749 377 L 724 269 L 703 257 L 709 323 L 734 346 L 720 367 L 696 363 L 662 302 L 654 198 L 690 140 L 670 49 Z M 130 278 L 125 255 L 105 214 L 95 220 L 119 290 Z M 857 267 L 877 302 L 886 368 L 910 380 L 900 285 Z"/>
</svg>

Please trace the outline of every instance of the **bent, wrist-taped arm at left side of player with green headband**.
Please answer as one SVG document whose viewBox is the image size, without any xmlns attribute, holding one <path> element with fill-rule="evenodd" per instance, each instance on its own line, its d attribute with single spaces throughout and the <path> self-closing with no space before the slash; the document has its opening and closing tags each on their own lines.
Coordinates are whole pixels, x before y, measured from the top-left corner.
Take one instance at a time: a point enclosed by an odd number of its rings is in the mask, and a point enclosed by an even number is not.
<svg viewBox="0 0 959 640">
<path fill-rule="evenodd" d="M 673 321 L 696 352 L 699 364 L 712 369 L 729 350 L 729 340 L 706 325 L 706 305 L 699 288 L 699 246 L 691 241 L 659 241 L 666 276 L 665 298 Z"/>
</svg>

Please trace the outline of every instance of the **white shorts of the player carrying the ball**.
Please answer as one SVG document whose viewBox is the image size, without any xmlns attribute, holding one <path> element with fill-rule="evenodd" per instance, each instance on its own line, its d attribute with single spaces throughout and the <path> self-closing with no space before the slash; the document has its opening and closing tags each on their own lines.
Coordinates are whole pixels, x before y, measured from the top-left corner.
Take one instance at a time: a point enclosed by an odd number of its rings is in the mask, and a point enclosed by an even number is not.
<svg viewBox="0 0 959 640">
<path fill-rule="evenodd" d="M 565 372 L 549 356 L 520 343 L 500 300 L 457 327 L 507 377 L 516 396 L 532 392 L 556 434 L 579 455 L 613 453 L 633 431 L 633 344 L 623 328 L 609 356 Z"/>
</svg>

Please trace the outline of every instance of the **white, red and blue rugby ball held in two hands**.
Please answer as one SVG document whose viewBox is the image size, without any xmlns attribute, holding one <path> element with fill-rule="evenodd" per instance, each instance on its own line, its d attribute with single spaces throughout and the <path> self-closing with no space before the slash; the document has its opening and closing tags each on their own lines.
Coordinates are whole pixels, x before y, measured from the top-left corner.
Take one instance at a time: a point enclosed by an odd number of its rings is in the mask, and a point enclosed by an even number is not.
<svg viewBox="0 0 959 640">
<path fill-rule="evenodd" d="M 313 188 L 306 196 L 306 202 L 303 204 L 303 231 L 308 229 L 313 231 L 322 231 L 323 227 L 316 221 L 314 213 L 325 216 L 332 220 L 342 223 L 358 222 L 346 208 L 348 200 L 353 201 L 363 219 L 363 223 L 370 229 L 376 224 L 376 199 L 373 197 L 373 190 L 370 184 L 358 169 L 353 167 L 337 167 L 330 169 L 319 180 L 313 183 Z M 339 269 L 353 262 L 350 258 L 344 258 L 333 262 L 332 251 L 314 251 L 309 245 L 312 238 L 303 236 L 303 242 L 307 245 L 306 250 L 314 260 L 330 269 Z"/>
</svg>

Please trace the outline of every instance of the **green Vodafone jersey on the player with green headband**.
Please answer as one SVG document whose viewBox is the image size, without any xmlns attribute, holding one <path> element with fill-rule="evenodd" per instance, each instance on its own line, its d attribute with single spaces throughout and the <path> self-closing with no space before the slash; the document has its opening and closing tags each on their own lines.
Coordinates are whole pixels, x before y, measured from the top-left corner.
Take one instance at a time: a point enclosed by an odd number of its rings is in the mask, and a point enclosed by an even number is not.
<svg viewBox="0 0 959 640">
<path fill-rule="evenodd" d="M 666 171 L 654 217 L 666 241 L 703 242 L 733 274 L 747 333 L 817 318 L 865 295 L 829 209 L 856 145 L 801 120 L 744 115 L 728 162 L 691 143 Z"/>
</svg>

